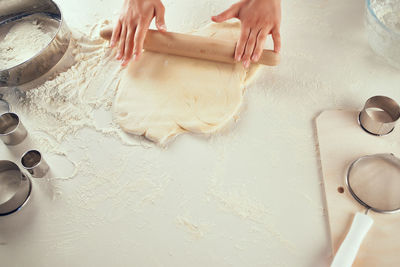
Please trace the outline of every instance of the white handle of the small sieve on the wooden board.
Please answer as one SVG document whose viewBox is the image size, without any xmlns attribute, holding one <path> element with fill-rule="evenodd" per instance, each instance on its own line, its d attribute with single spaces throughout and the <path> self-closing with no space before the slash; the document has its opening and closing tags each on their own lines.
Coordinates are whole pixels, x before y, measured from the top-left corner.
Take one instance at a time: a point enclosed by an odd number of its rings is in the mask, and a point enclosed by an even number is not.
<svg viewBox="0 0 400 267">
<path fill-rule="evenodd" d="M 346 238 L 336 252 L 331 267 L 351 267 L 373 222 L 371 217 L 360 212 L 356 213 Z"/>
</svg>

